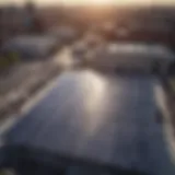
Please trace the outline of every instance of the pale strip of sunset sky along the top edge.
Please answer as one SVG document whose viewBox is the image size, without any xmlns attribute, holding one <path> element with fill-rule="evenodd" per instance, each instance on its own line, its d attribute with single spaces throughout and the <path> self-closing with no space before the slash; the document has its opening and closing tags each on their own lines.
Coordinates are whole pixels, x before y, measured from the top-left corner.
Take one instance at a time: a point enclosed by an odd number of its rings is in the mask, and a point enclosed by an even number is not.
<svg viewBox="0 0 175 175">
<path fill-rule="evenodd" d="M 0 0 L 0 4 L 22 4 L 28 0 Z M 47 4 L 174 4 L 175 0 L 31 0 L 38 5 Z"/>
</svg>

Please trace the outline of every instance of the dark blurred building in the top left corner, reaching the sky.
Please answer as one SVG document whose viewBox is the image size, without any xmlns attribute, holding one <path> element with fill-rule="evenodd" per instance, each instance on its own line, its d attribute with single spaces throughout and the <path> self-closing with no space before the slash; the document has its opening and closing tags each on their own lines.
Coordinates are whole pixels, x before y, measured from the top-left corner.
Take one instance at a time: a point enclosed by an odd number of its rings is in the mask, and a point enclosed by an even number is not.
<svg viewBox="0 0 175 175">
<path fill-rule="evenodd" d="M 27 1 L 24 7 L 18 7 L 15 4 L 1 7 L 0 44 L 15 35 L 34 31 L 35 21 L 35 5 L 31 1 Z"/>
</svg>

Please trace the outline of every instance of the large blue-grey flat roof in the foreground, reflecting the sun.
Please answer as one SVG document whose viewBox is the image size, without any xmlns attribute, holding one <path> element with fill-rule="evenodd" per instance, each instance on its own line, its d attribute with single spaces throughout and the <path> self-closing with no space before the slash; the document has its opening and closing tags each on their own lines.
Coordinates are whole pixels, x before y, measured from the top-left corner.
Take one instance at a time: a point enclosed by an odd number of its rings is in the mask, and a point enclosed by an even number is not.
<svg viewBox="0 0 175 175">
<path fill-rule="evenodd" d="M 47 149 L 149 175 L 174 175 L 161 124 L 155 77 L 79 70 L 7 133 L 7 143 Z"/>
</svg>

